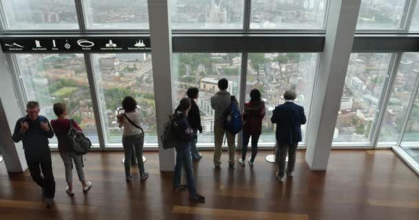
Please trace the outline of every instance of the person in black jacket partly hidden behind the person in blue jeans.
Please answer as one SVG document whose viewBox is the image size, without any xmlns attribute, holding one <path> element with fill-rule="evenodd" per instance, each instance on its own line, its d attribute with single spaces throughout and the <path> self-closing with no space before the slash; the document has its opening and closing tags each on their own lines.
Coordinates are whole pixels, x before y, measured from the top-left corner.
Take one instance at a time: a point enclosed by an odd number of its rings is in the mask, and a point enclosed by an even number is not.
<svg viewBox="0 0 419 220">
<path fill-rule="evenodd" d="M 196 143 L 198 142 L 198 131 L 199 133 L 202 133 L 201 113 L 199 113 L 199 107 L 195 102 L 198 98 L 198 92 L 198 88 L 196 87 L 190 87 L 186 92 L 187 97 L 189 97 L 192 102 L 191 109 L 189 113 L 187 113 L 187 122 L 194 130 L 194 138 L 192 139 L 191 144 L 192 160 L 199 160 L 202 158 L 202 155 L 199 154 L 198 149 L 196 148 Z"/>
</svg>

